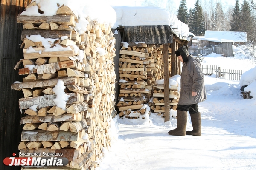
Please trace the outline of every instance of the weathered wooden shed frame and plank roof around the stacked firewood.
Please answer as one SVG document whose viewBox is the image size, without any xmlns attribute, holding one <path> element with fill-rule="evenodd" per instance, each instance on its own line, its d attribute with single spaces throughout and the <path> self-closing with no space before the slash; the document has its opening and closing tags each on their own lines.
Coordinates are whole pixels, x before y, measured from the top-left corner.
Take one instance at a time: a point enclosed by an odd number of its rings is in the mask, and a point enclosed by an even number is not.
<svg viewBox="0 0 256 170">
<path fill-rule="evenodd" d="M 169 77 L 172 77 L 176 74 L 180 74 L 180 61 L 177 60 L 175 57 L 175 51 L 177 48 L 179 48 L 181 45 L 186 45 L 188 42 L 187 40 L 181 40 L 179 35 L 176 34 L 175 31 L 172 30 L 172 28 L 168 25 L 156 25 L 156 26 L 124 26 L 124 27 L 119 27 L 116 30 L 118 30 L 119 34 L 116 34 L 116 40 L 120 40 L 119 42 L 128 42 L 129 46 L 131 47 L 131 50 L 136 49 L 137 50 L 137 45 L 135 43 L 141 42 L 143 43 L 145 47 L 152 47 L 152 46 L 158 46 L 160 49 L 163 51 L 163 69 L 158 70 L 163 74 L 163 77 L 157 77 L 157 75 L 153 75 L 154 80 L 157 79 L 164 79 L 164 91 L 168 92 L 169 91 Z M 119 46 L 118 46 L 119 45 Z M 116 43 L 116 51 L 122 52 L 120 48 L 122 45 L 120 43 Z M 123 54 L 123 52 L 122 52 Z M 128 53 L 125 53 L 128 54 Z M 132 54 L 132 53 L 131 53 Z M 120 65 L 119 63 L 119 57 L 121 54 L 116 54 L 116 60 L 115 60 L 115 65 Z M 122 57 L 121 57 L 122 58 Z M 146 59 L 147 60 L 147 59 Z M 152 61 L 152 60 L 151 60 Z M 126 67 L 126 66 L 125 66 Z M 125 70 L 125 69 L 122 69 Z M 116 75 L 117 75 L 117 81 L 119 80 L 119 73 L 122 72 L 122 70 L 117 69 L 116 70 Z M 135 69 L 134 69 L 135 70 Z M 151 74 L 148 74 L 148 80 L 152 80 Z M 122 77 L 122 76 L 120 76 Z M 127 75 L 128 78 L 130 78 Z M 132 75 L 132 77 L 134 77 Z M 131 80 L 131 79 L 130 79 Z M 148 82 L 148 85 L 152 84 L 151 82 Z M 154 84 L 154 81 L 153 81 Z M 127 87 L 123 85 L 123 87 Z M 122 90 L 122 87 L 121 87 Z M 149 91 L 151 89 L 148 89 Z M 119 96 L 119 91 L 120 87 L 116 85 L 116 103 L 118 102 L 118 99 L 120 99 Z M 124 90 L 122 90 L 122 93 Z M 141 93 L 142 90 L 140 90 Z M 121 93 L 121 92 L 120 92 Z M 118 97 L 119 96 L 119 97 Z M 148 95 L 148 98 L 151 98 L 152 95 Z M 164 112 L 164 117 L 165 121 L 168 121 L 169 114 L 169 93 L 165 93 L 164 96 L 164 110 L 161 110 Z M 166 102 L 168 101 L 168 102 Z M 130 101 L 131 102 L 131 101 Z M 120 104 L 121 105 L 121 104 Z M 119 106 L 119 103 L 117 103 L 117 106 Z M 133 106 L 125 106 L 125 107 L 116 107 L 117 110 L 122 111 L 123 108 L 125 109 L 138 109 L 141 108 L 141 106 L 133 107 Z M 127 112 L 126 112 L 127 113 Z M 125 113 L 124 113 L 125 114 Z"/>
</svg>

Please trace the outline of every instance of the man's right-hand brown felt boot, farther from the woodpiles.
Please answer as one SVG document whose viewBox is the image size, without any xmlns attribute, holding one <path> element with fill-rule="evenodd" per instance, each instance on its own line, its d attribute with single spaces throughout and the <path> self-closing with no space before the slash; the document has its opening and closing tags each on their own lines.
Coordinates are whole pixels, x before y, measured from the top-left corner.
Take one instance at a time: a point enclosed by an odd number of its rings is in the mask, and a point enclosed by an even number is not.
<svg viewBox="0 0 256 170">
<path fill-rule="evenodd" d="M 201 113 L 190 114 L 193 130 L 186 131 L 186 135 L 201 136 Z"/>
</svg>

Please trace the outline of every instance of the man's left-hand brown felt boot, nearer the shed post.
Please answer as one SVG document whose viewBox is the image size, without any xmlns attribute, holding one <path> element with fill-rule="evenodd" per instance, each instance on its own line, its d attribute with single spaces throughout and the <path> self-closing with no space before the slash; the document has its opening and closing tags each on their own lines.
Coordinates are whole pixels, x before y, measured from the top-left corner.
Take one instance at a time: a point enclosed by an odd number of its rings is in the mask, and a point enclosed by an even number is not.
<svg viewBox="0 0 256 170">
<path fill-rule="evenodd" d="M 170 130 L 169 135 L 174 136 L 185 136 L 186 135 L 186 122 L 187 122 L 187 111 L 177 110 L 177 128 Z"/>
</svg>

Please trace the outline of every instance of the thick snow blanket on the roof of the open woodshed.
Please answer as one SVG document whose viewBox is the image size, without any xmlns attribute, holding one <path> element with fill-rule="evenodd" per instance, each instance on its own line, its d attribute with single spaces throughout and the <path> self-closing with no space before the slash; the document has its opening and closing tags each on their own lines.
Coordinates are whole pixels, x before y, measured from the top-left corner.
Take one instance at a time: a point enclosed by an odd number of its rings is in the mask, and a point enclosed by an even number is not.
<svg viewBox="0 0 256 170">
<path fill-rule="evenodd" d="M 151 6 L 112 6 L 116 11 L 116 23 L 112 28 L 119 26 L 170 26 L 181 39 L 189 36 L 187 24 L 178 20 L 164 8 Z M 180 35 L 180 36 L 179 36 Z"/>
</svg>

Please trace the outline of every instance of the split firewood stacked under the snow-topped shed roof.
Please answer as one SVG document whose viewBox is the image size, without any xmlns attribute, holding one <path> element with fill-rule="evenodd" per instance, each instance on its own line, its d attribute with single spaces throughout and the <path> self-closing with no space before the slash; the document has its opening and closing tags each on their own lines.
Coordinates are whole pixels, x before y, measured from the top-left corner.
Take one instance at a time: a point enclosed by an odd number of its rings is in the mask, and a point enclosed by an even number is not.
<svg viewBox="0 0 256 170">
<path fill-rule="evenodd" d="M 148 104 L 153 113 L 164 112 L 163 85 L 154 85 L 156 80 L 164 77 L 163 45 L 122 42 L 121 47 L 119 59 L 120 94 L 117 104 L 119 116 L 137 119 L 145 113 L 143 104 Z M 171 51 L 170 48 L 169 51 Z M 154 102 L 150 101 L 152 96 Z M 175 109 L 177 107 L 178 96 L 177 86 L 172 87 L 170 108 Z"/>
</svg>

